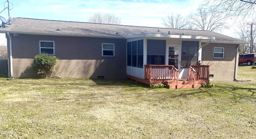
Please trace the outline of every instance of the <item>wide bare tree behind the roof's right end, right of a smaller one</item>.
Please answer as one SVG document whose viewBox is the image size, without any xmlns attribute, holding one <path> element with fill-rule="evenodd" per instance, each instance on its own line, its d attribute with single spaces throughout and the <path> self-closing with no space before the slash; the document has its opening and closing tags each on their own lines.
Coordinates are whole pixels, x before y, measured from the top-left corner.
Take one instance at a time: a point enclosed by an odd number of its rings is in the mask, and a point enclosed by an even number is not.
<svg viewBox="0 0 256 139">
<path fill-rule="evenodd" d="M 189 18 L 190 24 L 194 25 L 196 29 L 217 31 L 228 28 L 225 22 L 227 16 L 214 9 L 206 10 L 200 6 L 196 13 L 189 15 Z"/>
</svg>

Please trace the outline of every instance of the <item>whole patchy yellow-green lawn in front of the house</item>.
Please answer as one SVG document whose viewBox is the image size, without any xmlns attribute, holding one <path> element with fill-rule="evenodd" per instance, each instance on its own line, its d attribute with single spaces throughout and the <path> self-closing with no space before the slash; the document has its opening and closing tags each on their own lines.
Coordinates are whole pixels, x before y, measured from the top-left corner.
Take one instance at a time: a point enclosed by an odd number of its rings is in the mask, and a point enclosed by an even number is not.
<svg viewBox="0 0 256 139">
<path fill-rule="evenodd" d="M 255 80 L 242 75 L 251 67 L 239 66 L 238 79 Z M 254 80 L 172 90 L 131 80 L 0 78 L 0 138 L 252 139 Z"/>
</svg>

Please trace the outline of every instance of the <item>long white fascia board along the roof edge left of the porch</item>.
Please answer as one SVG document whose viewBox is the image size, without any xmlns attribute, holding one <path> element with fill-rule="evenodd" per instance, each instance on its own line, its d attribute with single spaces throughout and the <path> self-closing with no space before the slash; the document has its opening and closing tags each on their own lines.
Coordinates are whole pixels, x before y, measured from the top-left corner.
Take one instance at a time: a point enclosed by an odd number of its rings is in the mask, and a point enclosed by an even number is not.
<svg viewBox="0 0 256 139">
<path fill-rule="evenodd" d="M 114 36 L 114 35 L 92 35 L 92 34 L 76 34 L 76 33 L 55 33 L 55 32 L 0 30 L 0 33 L 7 33 L 7 32 L 17 33 L 17 34 L 31 34 L 31 35 L 54 35 L 54 36 L 101 37 L 101 38 L 125 39 L 125 36 Z"/>
</svg>

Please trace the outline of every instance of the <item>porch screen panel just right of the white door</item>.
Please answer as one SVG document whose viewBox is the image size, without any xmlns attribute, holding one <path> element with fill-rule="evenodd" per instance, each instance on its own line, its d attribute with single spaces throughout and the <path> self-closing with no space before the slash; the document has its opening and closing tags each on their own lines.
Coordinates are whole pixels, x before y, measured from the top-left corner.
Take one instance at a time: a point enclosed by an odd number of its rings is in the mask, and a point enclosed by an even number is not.
<svg viewBox="0 0 256 139">
<path fill-rule="evenodd" d="M 182 41 L 181 68 L 196 65 L 198 61 L 199 41 Z"/>
</svg>

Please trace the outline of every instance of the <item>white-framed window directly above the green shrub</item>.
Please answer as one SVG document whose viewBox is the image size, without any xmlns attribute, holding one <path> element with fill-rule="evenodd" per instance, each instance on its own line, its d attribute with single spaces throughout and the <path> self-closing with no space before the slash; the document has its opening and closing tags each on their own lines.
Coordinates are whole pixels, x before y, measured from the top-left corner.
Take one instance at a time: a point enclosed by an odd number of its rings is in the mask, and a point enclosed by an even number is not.
<svg viewBox="0 0 256 139">
<path fill-rule="evenodd" d="M 54 55 L 54 41 L 39 41 L 40 54 Z"/>
</svg>

